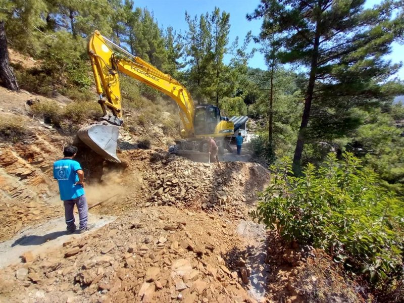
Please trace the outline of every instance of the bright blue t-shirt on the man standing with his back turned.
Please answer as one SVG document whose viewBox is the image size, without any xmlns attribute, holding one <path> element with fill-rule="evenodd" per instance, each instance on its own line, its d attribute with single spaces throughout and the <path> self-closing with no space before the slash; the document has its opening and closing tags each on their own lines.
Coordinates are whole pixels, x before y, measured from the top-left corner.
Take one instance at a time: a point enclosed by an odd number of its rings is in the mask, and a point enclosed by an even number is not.
<svg viewBox="0 0 404 303">
<path fill-rule="evenodd" d="M 83 186 L 75 185 L 79 181 L 77 171 L 81 166 L 72 159 L 62 159 L 54 163 L 54 178 L 58 180 L 61 200 L 71 200 L 84 194 Z"/>
</svg>

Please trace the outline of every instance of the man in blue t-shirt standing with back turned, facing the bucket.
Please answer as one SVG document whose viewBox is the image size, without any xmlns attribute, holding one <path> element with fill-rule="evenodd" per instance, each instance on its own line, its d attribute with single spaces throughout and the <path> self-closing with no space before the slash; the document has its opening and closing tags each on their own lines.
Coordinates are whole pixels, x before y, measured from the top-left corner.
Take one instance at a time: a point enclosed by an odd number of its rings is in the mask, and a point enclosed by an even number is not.
<svg viewBox="0 0 404 303">
<path fill-rule="evenodd" d="M 88 207 L 84 195 L 84 172 L 80 163 L 73 160 L 76 154 L 76 146 L 64 148 L 65 158 L 54 163 L 54 178 L 58 180 L 60 199 L 63 200 L 65 206 L 66 229 L 69 232 L 76 230 L 73 215 L 74 205 L 76 205 L 80 219 L 79 232 L 82 233 L 90 227 L 87 225 Z"/>
</svg>

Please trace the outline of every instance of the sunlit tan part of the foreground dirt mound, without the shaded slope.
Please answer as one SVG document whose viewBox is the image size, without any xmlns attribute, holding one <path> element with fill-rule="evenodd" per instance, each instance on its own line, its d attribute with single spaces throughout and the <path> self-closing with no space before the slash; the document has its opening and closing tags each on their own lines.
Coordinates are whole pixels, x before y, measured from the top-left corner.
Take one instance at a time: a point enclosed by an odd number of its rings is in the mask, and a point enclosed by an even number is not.
<svg viewBox="0 0 404 303">
<path fill-rule="evenodd" d="M 8 301 L 252 302 L 223 256 L 235 225 L 170 207 L 133 211 L 62 249 L 0 271 Z"/>
</svg>

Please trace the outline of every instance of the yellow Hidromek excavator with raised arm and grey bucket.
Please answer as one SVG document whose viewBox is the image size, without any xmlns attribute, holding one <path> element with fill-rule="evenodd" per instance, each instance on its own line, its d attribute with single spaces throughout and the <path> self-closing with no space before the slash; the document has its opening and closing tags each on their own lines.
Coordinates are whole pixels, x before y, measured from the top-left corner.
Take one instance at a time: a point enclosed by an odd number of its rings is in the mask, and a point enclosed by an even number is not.
<svg viewBox="0 0 404 303">
<path fill-rule="evenodd" d="M 95 31 L 88 42 L 98 103 L 104 116 L 99 122 L 81 128 L 78 137 L 106 160 L 120 162 L 117 156 L 118 127 L 124 123 L 119 72 L 139 80 L 170 96 L 178 105 L 184 129 L 171 152 L 176 154 L 206 152 L 206 139 L 215 137 L 219 148 L 224 138 L 234 133 L 234 123 L 220 115 L 212 105 L 194 106 L 193 100 L 179 81 L 173 79 L 139 57 L 125 51 L 113 41 Z"/>
</svg>

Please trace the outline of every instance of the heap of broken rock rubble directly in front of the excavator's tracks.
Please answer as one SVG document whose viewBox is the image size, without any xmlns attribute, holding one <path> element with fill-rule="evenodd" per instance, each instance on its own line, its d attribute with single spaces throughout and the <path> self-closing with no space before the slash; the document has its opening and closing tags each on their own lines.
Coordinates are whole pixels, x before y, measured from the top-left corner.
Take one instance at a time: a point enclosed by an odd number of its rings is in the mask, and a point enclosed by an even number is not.
<svg viewBox="0 0 404 303">
<path fill-rule="evenodd" d="M 257 191 L 269 181 L 269 171 L 257 163 L 195 163 L 162 149 L 126 150 L 119 157 L 124 161 L 121 169 L 126 166 L 120 177 L 115 181 L 103 177 L 101 184 L 115 182 L 123 190 L 107 194 L 107 199 L 113 195 L 119 198 L 96 207 L 99 213 L 168 205 L 245 218 Z M 114 171 L 111 166 L 107 170 Z"/>
</svg>

